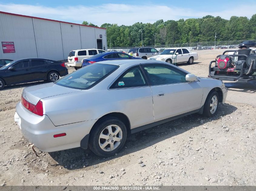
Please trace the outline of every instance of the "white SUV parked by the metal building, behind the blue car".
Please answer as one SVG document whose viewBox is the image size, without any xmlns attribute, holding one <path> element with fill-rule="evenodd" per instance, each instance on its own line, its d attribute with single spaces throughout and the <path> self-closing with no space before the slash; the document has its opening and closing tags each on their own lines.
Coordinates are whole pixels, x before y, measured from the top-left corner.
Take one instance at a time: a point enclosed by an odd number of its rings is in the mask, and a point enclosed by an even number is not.
<svg viewBox="0 0 256 191">
<path fill-rule="evenodd" d="M 74 67 L 76 70 L 82 67 L 82 60 L 90 58 L 98 53 L 105 53 L 105 50 L 101 49 L 78 49 L 72 50 L 68 54 L 68 66 Z"/>
</svg>

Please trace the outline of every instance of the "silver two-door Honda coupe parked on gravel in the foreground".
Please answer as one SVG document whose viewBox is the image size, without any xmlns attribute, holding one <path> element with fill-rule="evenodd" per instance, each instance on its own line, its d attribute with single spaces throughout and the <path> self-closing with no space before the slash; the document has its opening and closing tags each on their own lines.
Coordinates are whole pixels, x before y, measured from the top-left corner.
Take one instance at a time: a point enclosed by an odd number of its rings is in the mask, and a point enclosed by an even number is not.
<svg viewBox="0 0 256 191">
<path fill-rule="evenodd" d="M 89 147 L 107 157 L 131 133 L 192 113 L 213 116 L 226 96 L 222 81 L 166 62 L 111 60 L 24 88 L 15 121 L 41 151 Z"/>
</svg>

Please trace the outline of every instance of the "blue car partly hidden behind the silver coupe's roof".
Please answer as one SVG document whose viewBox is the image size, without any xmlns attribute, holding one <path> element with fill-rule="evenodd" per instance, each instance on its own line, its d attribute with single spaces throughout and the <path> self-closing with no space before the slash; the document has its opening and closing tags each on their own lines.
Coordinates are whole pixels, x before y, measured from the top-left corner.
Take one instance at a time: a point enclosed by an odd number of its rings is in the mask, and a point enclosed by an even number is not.
<svg viewBox="0 0 256 191">
<path fill-rule="evenodd" d="M 105 52 L 91 56 L 88 59 L 83 59 L 82 67 L 93 64 L 94 62 L 100 62 L 104 60 L 118 60 L 118 59 L 141 59 L 130 56 L 121 52 Z"/>
</svg>

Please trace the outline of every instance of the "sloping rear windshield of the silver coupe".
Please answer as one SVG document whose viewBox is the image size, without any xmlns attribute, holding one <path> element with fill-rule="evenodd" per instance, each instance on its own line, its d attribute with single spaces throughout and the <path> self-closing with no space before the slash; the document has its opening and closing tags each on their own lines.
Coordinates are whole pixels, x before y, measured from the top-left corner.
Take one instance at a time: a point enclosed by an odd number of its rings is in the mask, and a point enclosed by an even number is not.
<svg viewBox="0 0 256 191">
<path fill-rule="evenodd" d="M 91 64 L 55 81 L 55 84 L 74 89 L 89 89 L 114 72 L 119 66 Z"/>
</svg>

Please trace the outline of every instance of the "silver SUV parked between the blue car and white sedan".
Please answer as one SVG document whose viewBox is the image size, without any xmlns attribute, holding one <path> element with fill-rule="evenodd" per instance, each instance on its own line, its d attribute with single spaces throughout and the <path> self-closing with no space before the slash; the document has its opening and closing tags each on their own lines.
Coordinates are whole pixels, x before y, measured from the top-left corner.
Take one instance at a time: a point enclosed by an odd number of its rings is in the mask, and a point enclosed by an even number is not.
<svg viewBox="0 0 256 191">
<path fill-rule="evenodd" d="M 142 59 L 148 59 L 151 56 L 156 56 L 159 54 L 159 51 L 151 47 L 140 47 L 140 48 L 131 48 L 128 53 L 133 52 L 133 56 Z"/>
</svg>

